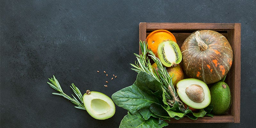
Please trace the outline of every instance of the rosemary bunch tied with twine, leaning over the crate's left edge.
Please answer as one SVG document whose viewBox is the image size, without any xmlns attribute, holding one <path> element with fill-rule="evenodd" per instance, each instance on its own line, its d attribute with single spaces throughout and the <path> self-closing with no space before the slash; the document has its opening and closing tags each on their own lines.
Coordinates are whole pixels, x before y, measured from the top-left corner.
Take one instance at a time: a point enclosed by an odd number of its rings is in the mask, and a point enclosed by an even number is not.
<svg viewBox="0 0 256 128">
<path fill-rule="evenodd" d="M 140 49 L 141 49 L 141 55 L 138 55 L 134 53 L 134 55 L 137 58 L 137 62 L 134 64 L 131 64 L 132 70 L 136 72 L 144 71 L 150 74 L 151 76 L 155 77 L 160 83 L 162 83 L 162 88 L 165 93 L 167 102 L 169 105 L 173 106 L 175 104 L 175 101 L 178 102 L 180 110 L 185 110 L 185 107 L 183 103 L 180 101 L 178 94 L 176 93 L 174 86 L 172 84 L 172 77 L 168 74 L 166 68 L 162 65 L 161 61 L 156 57 L 156 55 L 151 51 L 151 49 L 148 49 L 148 44 L 146 42 L 140 41 Z M 150 63 L 150 59 L 148 59 L 148 56 L 151 57 L 151 59 L 156 63 L 157 68 L 159 70 L 156 71 L 155 68 L 152 68 L 152 65 Z"/>
</svg>

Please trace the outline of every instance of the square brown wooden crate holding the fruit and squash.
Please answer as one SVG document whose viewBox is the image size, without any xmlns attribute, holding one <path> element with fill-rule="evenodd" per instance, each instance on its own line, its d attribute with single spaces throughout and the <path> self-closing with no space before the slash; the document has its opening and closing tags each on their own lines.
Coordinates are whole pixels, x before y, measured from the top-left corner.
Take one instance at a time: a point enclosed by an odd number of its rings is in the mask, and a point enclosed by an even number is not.
<svg viewBox="0 0 256 128">
<path fill-rule="evenodd" d="M 148 34 L 157 29 L 170 31 L 181 47 L 184 40 L 194 31 L 211 29 L 225 36 L 233 49 L 233 64 L 225 82 L 230 86 L 231 107 L 222 116 L 199 117 L 191 120 L 184 117 L 180 120 L 171 119 L 169 123 L 240 123 L 240 80 L 241 80 L 241 24 L 240 23 L 140 23 L 140 40 L 146 41 Z M 139 51 L 141 54 L 141 51 Z"/>
</svg>

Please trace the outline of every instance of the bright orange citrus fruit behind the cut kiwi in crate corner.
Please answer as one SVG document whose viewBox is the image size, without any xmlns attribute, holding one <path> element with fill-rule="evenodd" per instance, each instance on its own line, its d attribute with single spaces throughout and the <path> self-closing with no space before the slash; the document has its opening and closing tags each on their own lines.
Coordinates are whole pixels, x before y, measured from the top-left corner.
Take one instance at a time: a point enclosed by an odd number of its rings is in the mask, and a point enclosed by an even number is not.
<svg viewBox="0 0 256 128">
<path fill-rule="evenodd" d="M 151 49 L 153 53 L 157 54 L 158 45 L 168 39 L 177 42 L 171 32 L 164 29 L 155 30 L 147 36 L 148 49 Z"/>
</svg>

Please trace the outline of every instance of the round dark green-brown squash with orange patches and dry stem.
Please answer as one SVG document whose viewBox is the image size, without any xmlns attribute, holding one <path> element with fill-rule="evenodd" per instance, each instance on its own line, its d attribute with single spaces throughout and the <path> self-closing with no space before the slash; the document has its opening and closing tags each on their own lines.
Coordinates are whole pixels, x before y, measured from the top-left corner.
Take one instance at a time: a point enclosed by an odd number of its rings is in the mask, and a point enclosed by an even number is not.
<svg viewBox="0 0 256 128">
<path fill-rule="evenodd" d="M 181 46 L 182 68 L 190 78 L 212 84 L 220 81 L 233 62 L 233 51 L 225 36 L 212 30 L 192 33 Z"/>
</svg>

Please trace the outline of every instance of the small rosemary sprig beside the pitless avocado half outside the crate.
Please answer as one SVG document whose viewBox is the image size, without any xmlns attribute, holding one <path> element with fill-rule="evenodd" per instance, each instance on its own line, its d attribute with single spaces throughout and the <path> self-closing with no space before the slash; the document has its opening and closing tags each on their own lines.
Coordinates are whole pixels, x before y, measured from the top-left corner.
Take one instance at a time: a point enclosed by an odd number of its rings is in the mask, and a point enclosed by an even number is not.
<svg viewBox="0 0 256 128">
<path fill-rule="evenodd" d="M 70 102 L 72 102 L 73 104 L 75 104 L 75 108 L 79 108 L 79 109 L 83 109 L 86 110 L 84 107 L 84 103 L 83 103 L 83 95 L 80 92 L 80 90 L 75 86 L 74 83 L 72 83 L 70 86 L 70 88 L 73 90 L 73 92 L 76 94 L 78 100 L 80 100 L 80 102 L 76 99 L 76 97 L 72 94 L 73 98 L 71 98 L 70 96 L 68 96 L 67 94 L 65 94 L 62 91 L 62 88 L 60 86 L 60 83 L 58 82 L 58 80 L 55 78 L 55 76 L 53 76 L 53 78 L 49 78 L 50 82 L 47 82 L 53 89 L 57 90 L 60 93 L 55 93 L 53 92 L 52 94 L 54 95 L 59 95 L 59 96 L 63 96 L 64 98 L 68 99 Z"/>
</svg>

